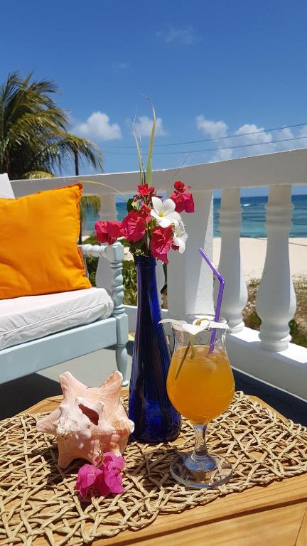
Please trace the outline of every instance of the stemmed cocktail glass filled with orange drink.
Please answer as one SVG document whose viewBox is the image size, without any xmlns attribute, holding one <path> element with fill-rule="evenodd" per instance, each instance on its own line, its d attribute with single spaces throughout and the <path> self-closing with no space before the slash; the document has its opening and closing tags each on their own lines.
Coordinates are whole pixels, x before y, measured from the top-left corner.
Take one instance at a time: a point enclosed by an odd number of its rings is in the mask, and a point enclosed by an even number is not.
<svg viewBox="0 0 307 546">
<path fill-rule="evenodd" d="M 213 315 L 205 317 L 214 321 Z M 200 315 L 181 316 L 180 319 L 197 324 Z M 235 392 L 225 346 L 227 319 L 221 318 L 219 322 L 225 324 L 225 328 L 215 328 L 215 342 L 211 347 L 212 328 L 190 336 L 172 324 L 174 347 L 167 392 L 176 410 L 193 424 L 195 447 L 192 452 L 182 452 L 172 461 L 171 474 L 185 486 L 195 488 L 220 486 L 232 476 L 230 463 L 219 454 L 208 453 L 205 442 L 208 423 L 227 410 Z"/>
</svg>

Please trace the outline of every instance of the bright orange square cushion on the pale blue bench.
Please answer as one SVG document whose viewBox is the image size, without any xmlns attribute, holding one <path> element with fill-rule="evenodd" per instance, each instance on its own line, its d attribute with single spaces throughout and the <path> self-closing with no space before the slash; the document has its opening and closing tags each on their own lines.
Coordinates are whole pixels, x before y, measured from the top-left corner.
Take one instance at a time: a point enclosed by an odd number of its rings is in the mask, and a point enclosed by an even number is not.
<svg viewBox="0 0 307 546">
<path fill-rule="evenodd" d="M 90 288 L 77 237 L 82 184 L 0 199 L 0 299 Z"/>
</svg>

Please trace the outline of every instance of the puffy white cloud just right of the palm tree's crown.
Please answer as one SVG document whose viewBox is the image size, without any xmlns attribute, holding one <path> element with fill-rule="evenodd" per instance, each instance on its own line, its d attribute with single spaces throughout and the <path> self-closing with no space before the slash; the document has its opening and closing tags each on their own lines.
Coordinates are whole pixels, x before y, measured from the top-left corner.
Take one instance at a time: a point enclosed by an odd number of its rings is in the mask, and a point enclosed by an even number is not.
<svg viewBox="0 0 307 546">
<path fill-rule="evenodd" d="M 115 140 L 122 138 L 122 131 L 118 123 L 111 124 L 109 116 L 103 112 L 93 112 L 86 122 L 78 123 L 72 132 L 96 141 Z"/>
</svg>

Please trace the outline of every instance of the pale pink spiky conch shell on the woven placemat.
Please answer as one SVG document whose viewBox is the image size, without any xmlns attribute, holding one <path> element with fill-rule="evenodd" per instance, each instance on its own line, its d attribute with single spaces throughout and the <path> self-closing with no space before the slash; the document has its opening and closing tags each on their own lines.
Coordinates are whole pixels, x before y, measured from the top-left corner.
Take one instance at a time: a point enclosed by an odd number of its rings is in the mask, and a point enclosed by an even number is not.
<svg viewBox="0 0 307 546">
<path fill-rule="evenodd" d="M 122 374 L 113 372 L 101 387 L 87 387 L 65 372 L 60 385 L 63 402 L 36 424 L 38 431 L 56 437 L 60 468 L 73 459 L 97 464 L 106 451 L 123 454 L 134 423 L 120 400 Z"/>
</svg>

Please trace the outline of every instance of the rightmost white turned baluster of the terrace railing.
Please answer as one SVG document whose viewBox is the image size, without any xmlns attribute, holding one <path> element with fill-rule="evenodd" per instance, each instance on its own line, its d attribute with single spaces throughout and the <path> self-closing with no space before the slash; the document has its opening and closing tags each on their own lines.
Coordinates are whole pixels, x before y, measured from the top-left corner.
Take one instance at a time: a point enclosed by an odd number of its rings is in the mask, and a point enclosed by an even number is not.
<svg viewBox="0 0 307 546">
<path fill-rule="evenodd" d="M 256 301 L 262 319 L 259 338 L 267 350 L 285 350 L 291 341 L 288 323 L 296 310 L 289 264 L 292 209 L 291 186 L 271 186 L 266 205 L 266 259 Z"/>
</svg>

